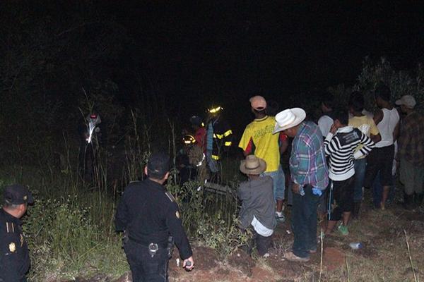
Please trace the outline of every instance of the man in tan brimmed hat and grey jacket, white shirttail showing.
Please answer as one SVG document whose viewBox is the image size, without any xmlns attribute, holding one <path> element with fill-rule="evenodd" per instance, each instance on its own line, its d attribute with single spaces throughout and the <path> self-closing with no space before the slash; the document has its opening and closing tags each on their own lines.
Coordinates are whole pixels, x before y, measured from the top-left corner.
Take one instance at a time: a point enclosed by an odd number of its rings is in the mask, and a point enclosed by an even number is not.
<svg viewBox="0 0 424 282">
<path fill-rule="evenodd" d="M 260 176 L 265 170 L 266 162 L 263 159 L 252 154 L 247 156 L 241 161 L 240 171 L 249 180 L 240 183 L 237 193 L 242 201 L 240 227 L 247 229 L 252 225 L 259 255 L 269 257 L 268 248 L 277 221 L 274 216 L 276 205 L 273 200 L 273 180 L 271 176 Z"/>
</svg>

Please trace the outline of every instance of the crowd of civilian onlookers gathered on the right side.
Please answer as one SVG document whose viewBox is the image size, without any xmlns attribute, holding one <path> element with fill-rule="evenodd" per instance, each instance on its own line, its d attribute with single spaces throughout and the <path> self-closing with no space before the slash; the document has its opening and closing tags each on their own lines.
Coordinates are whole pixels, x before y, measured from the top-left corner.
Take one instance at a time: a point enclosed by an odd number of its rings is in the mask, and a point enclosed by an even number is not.
<svg viewBox="0 0 424 282">
<path fill-rule="evenodd" d="M 264 97 L 249 99 L 254 120 L 238 145 L 246 158 L 240 171 L 248 179 L 238 188 L 239 217 L 241 227 L 254 232 L 259 255 L 269 255 L 276 222 L 285 221 L 286 195 L 295 240 L 285 258 L 300 262 L 317 250 L 317 219 L 322 221 L 324 235 L 335 228 L 348 235 L 351 220 L 359 219 L 365 188 L 372 189 L 374 208 L 384 210 L 394 201 L 397 173 L 404 185 L 404 208 L 423 202 L 424 119 L 415 111 L 416 100 L 404 95 L 392 104 L 387 85 L 379 85 L 374 94 L 374 114 L 365 109 L 358 91 L 351 93 L 347 106 L 330 93 L 322 94 L 322 116 L 317 123 L 308 121 L 300 108 L 268 115 Z M 214 118 L 220 118 L 218 112 Z M 201 118 L 194 118 L 200 125 Z M 202 126 L 196 127 L 192 145 L 208 143 L 201 130 Z M 290 151 L 287 175 L 281 166 L 285 151 Z"/>
</svg>

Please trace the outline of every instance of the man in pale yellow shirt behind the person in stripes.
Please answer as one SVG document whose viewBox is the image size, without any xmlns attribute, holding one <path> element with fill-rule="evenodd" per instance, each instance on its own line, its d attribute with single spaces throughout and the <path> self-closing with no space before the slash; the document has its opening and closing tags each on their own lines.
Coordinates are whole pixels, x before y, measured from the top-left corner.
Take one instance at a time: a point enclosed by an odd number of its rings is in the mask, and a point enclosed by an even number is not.
<svg viewBox="0 0 424 282">
<path fill-rule="evenodd" d="M 377 125 L 370 116 L 363 114 L 364 110 L 364 97 L 360 92 L 353 92 L 349 97 L 349 111 L 352 117 L 349 118 L 349 125 L 353 128 L 358 128 L 362 133 L 371 138 L 375 143 L 379 142 L 382 137 L 379 134 Z M 362 148 L 359 145 L 355 152 Z M 361 157 L 355 159 L 355 188 L 353 190 L 353 218 L 358 217 L 360 210 L 360 202 L 363 199 L 363 184 L 365 178 L 365 168 L 367 166 L 367 159 Z"/>
</svg>

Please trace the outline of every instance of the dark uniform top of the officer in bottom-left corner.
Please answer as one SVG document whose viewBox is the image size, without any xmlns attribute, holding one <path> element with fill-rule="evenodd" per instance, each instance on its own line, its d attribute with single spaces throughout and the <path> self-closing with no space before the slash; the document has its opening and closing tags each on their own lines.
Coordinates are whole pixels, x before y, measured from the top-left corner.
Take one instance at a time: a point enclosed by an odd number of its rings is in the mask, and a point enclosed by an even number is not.
<svg viewBox="0 0 424 282">
<path fill-rule="evenodd" d="M 20 224 L 19 219 L 0 210 L 0 282 L 26 281 L 30 255 Z"/>
</svg>

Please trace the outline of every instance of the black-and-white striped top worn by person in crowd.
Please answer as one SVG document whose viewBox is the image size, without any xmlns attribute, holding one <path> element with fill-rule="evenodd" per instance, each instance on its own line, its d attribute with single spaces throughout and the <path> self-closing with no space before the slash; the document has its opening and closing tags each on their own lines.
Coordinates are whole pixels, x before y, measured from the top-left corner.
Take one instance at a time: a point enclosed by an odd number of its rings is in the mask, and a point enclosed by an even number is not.
<svg viewBox="0 0 424 282">
<path fill-rule="evenodd" d="M 363 145 L 358 152 L 355 149 Z M 355 174 L 353 159 L 366 156 L 375 147 L 374 142 L 358 128 L 344 126 L 336 135 L 329 133 L 324 140 L 325 154 L 330 157 L 329 178 L 342 181 Z"/>
</svg>

